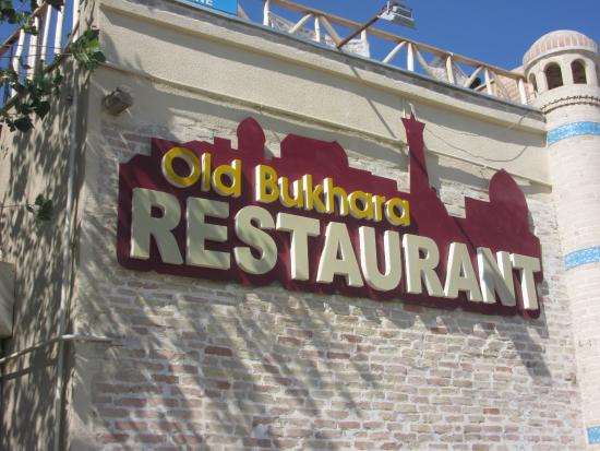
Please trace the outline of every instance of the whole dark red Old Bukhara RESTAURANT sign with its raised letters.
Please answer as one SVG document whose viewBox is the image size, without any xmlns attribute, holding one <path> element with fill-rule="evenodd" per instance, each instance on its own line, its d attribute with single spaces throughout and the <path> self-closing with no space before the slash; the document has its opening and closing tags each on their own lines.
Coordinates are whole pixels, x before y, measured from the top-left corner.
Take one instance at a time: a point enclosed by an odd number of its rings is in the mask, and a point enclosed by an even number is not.
<svg viewBox="0 0 600 451">
<path fill-rule="evenodd" d="M 496 173 L 451 216 L 429 183 L 424 124 L 403 119 L 410 191 L 352 168 L 337 142 L 289 134 L 265 157 L 253 119 L 229 140 L 153 139 L 119 169 L 117 256 L 131 270 L 537 318 L 540 242 Z"/>
</svg>

